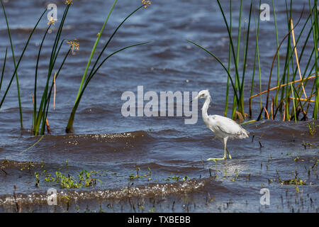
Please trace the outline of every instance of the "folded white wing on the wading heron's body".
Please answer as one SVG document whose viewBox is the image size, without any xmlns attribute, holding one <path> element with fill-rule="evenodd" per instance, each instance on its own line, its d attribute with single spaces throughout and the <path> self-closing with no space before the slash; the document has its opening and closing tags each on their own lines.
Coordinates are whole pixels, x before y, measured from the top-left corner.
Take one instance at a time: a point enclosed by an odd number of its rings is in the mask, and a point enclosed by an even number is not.
<svg viewBox="0 0 319 227">
<path fill-rule="evenodd" d="M 212 131 L 214 131 L 216 135 L 219 132 L 223 134 L 223 137 L 228 136 L 229 138 L 240 139 L 249 137 L 250 133 L 230 118 L 219 115 L 210 115 L 208 117 L 213 122 L 214 129 L 212 129 Z"/>
</svg>

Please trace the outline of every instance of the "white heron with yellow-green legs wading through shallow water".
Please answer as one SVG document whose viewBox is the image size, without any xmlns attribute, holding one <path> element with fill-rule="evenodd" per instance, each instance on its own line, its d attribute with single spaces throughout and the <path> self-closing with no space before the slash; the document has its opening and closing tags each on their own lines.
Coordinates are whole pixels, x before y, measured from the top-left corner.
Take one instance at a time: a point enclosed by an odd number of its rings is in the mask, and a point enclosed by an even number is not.
<svg viewBox="0 0 319 227">
<path fill-rule="evenodd" d="M 249 137 L 250 133 L 230 118 L 226 118 L 224 116 L 207 114 L 208 106 L 211 103 L 211 94 L 209 94 L 208 90 L 203 90 L 199 92 L 198 96 L 196 96 L 192 101 L 196 99 L 205 99 L 205 103 L 203 104 L 203 108 L 201 109 L 203 122 L 206 124 L 206 126 L 209 129 L 211 129 L 211 131 L 216 135 L 216 137 L 222 141 L 224 145 L 224 157 L 208 158 L 208 161 L 225 160 L 226 150 L 227 150 L 226 148 L 227 140 L 229 138 L 230 139 L 245 139 Z M 228 153 L 228 157 L 230 159 L 232 158 L 229 153 Z"/>
</svg>

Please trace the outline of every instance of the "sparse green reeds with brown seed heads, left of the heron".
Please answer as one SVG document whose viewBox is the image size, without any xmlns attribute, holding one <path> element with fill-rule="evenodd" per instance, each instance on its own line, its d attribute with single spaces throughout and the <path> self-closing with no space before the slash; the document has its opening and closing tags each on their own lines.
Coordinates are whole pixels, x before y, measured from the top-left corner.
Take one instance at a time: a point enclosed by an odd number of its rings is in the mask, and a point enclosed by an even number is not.
<svg viewBox="0 0 319 227">
<path fill-rule="evenodd" d="M 89 61 L 86 65 L 86 69 L 84 70 L 84 75 L 82 77 L 82 81 L 81 84 L 79 86 L 79 92 L 77 94 L 77 97 L 75 99 L 74 102 L 74 107 L 71 111 L 71 114 L 69 116 L 69 121 L 67 123 L 67 127 L 66 127 L 66 131 L 67 133 L 70 133 L 73 131 L 73 123 L 74 123 L 74 116 L 76 114 L 77 108 L 79 106 L 79 103 L 82 99 L 82 96 L 84 95 L 84 91 L 86 89 L 86 87 L 89 85 L 89 82 L 91 81 L 91 79 L 94 77 L 94 75 L 96 74 L 96 72 L 98 72 L 98 70 L 100 69 L 100 67 L 106 62 L 106 60 L 108 60 L 108 58 L 110 58 L 111 56 L 115 55 L 118 52 L 121 52 L 123 50 L 126 50 L 128 48 L 133 48 L 135 46 L 138 45 L 143 45 L 146 43 L 137 43 L 134 45 L 129 45 L 126 46 L 124 48 L 120 48 L 114 52 L 111 52 L 111 54 L 108 54 L 106 57 L 103 57 L 103 53 L 106 51 L 108 44 L 111 42 L 111 40 L 113 39 L 113 37 L 116 35 L 116 33 L 118 32 L 118 29 L 121 28 L 121 26 L 123 25 L 123 23 L 125 23 L 125 21 L 128 20 L 128 18 L 130 18 L 130 16 L 133 16 L 134 13 L 136 13 L 139 9 L 142 8 L 147 8 L 147 6 L 149 6 L 151 4 L 150 1 L 142 1 L 142 5 L 139 6 L 137 9 L 135 9 L 132 13 L 130 13 L 126 18 L 124 18 L 124 20 L 118 25 L 118 27 L 115 29 L 115 31 L 113 31 L 112 35 L 108 38 L 108 42 L 106 42 L 105 45 L 103 45 L 103 48 L 101 51 L 99 51 L 99 56 L 96 58 L 96 61 L 94 62 L 93 66 L 91 67 L 91 70 L 89 71 L 89 68 L 91 66 L 91 60 L 94 56 L 94 52 L 96 51 L 97 45 L 99 44 L 99 40 L 101 38 L 101 35 L 103 33 L 104 28 L 106 27 L 106 23 L 108 22 L 108 19 L 111 16 L 111 13 L 114 9 L 114 7 L 116 6 L 118 0 L 115 0 L 113 2 L 113 5 L 111 6 L 111 10 L 108 13 L 108 16 L 106 17 L 106 21 L 103 23 L 103 26 L 101 28 L 101 31 L 99 31 L 98 33 L 98 37 L 96 38 L 96 42 L 94 43 L 94 47 L 91 50 L 91 55 L 89 56 Z M 45 42 L 45 38 L 47 37 L 47 34 L 49 33 L 50 29 L 52 28 L 52 26 L 55 25 L 55 20 L 53 18 L 50 19 L 50 21 L 47 23 L 47 29 L 45 30 L 45 33 L 43 35 L 43 38 L 41 40 L 40 43 L 40 47 L 38 50 L 38 55 L 37 55 L 37 60 L 36 60 L 36 64 L 35 64 L 35 80 L 34 80 L 34 92 L 33 92 L 33 96 L 32 96 L 32 101 L 33 101 L 33 121 L 32 121 L 32 132 L 33 135 L 44 135 L 45 134 L 45 128 L 47 128 L 48 133 L 50 133 L 50 126 L 49 123 L 47 121 L 47 115 L 50 109 L 50 101 L 52 99 L 52 93 L 54 94 L 54 101 L 55 101 L 55 82 L 56 79 L 59 77 L 60 72 L 62 70 L 63 65 L 65 65 L 65 62 L 67 60 L 67 57 L 69 56 L 69 53 L 74 50 L 78 50 L 79 49 L 79 43 L 77 42 L 77 39 L 75 40 L 67 40 L 67 39 L 62 39 L 62 30 L 63 30 L 63 26 L 65 24 L 65 20 L 67 18 L 67 13 L 69 11 L 69 7 L 71 5 L 73 5 L 72 0 L 67 0 L 65 1 L 65 11 L 63 13 L 61 22 L 60 22 L 60 26 L 57 29 L 57 33 L 55 35 L 55 41 L 52 45 L 52 51 L 51 51 L 51 56 L 50 56 L 50 60 L 49 60 L 49 66 L 48 66 L 48 70 L 47 70 L 47 77 L 46 77 L 46 82 L 45 82 L 45 88 L 43 89 L 40 99 L 40 105 L 38 105 L 38 101 L 37 101 L 37 97 L 38 97 L 38 67 L 39 67 L 39 62 L 40 62 L 40 56 L 41 56 L 41 50 L 43 48 L 43 43 Z M 4 7 L 4 2 L 3 0 L 1 0 L 1 6 L 2 9 L 4 11 L 4 17 L 6 19 L 6 26 L 7 26 L 7 30 L 8 30 L 8 35 L 9 35 L 9 40 L 10 40 L 10 44 L 11 44 L 11 52 L 13 55 L 13 64 L 14 64 L 14 70 L 11 76 L 11 79 L 9 80 L 9 84 L 6 85 L 6 90 L 4 92 L 4 94 L 2 96 L 0 96 L 0 109 L 2 104 L 4 103 L 4 100 L 6 99 L 6 96 L 9 92 L 9 89 L 11 88 L 11 84 L 13 82 L 13 79 L 16 77 L 16 82 L 17 82 L 17 88 L 18 88 L 18 104 L 19 104 L 19 111 L 20 111 L 20 118 L 21 118 L 21 128 L 23 128 L 23 118 L 22 118 L 22 110 L 21 110 L 21 97 L 20 97 L 20 89 L 19 89 L 19 82 L 18 82 L 18 67 L 21 63 L 21 60 L 23 58 L 23 55 L 26 51 L 26 48 L 28 47 L 28 44 L 30 42 L 31 37 L 33 36 L 33 33 L 35 32 L 35 29 L 38 27 L 38 24 L 40 23 L 41 19 L 43 18 L 43 16 L 45 15 L 45 12 L 47 11 L 47 9 L 45 9 L 45 11 L 42 13 L 42 15 L 40 16 L 40 18 L 38 18 L 37 23 L 35 24 L 33 30 L 31 31 L 28 40 L 23 48 L 23 51 L 20 55 L 20 57 L 18 58 L 18 61 L 16 62 L 16 59 L 14 57 L 14 51 L 13 51 L 13 42 L 11 39 L 11 33 L 10 33 L 10 28 L 9 28 L 9 22 L 8 22 L 8 18 L 6 16 L 6 10 Z M 62 62 L 60 63 L 60 65 L 57 65 L 57 58 L 60 56 L 60 50 L 62 48 L 62 45 L 64 43 L 69 44 L 69 50 L 67 52 L 65 52 L 64 57 Z M 4 72 L 5 72 L 5 67 L 6 67 L 6 63 L 7 63 L 7 52 L 8 50 L 6 49 L 5 52 L 5 56 L 4 56 L 4 64 L 2 66 L 2 70 L 1 70 L 1 77 L 0 77 L 0 92 L 1 92 L 1 87 L 3 86 L 3 81 L 4 81 Z"/>
</svg>

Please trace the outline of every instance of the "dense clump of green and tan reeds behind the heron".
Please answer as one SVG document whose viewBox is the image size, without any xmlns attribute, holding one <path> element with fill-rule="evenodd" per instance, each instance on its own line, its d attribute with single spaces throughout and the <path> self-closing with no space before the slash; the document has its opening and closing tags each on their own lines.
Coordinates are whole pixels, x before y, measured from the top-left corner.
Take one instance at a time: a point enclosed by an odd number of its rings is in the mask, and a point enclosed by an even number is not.
<svg viewBox="0 0 319 227">
<path fill-rule="evenodd" d="M 286 35 L 280 39 L 278 26 L 276 21 L 276 9 L 274 6 L 274 1 L 272 1 L 272 9 L 274 15 L 274 40 L 276 40 L 276 48 L 274 48 L 274 57 L 269 73 L 269 79 L 267 84 L 267 90 L 262 91 L 262 72 L 259 55 L 259 24 L 260 24 L 260 6 L 259 1 L 258 13 L 253 9 L 252 3 L 250 3 L 250 13 L 249 19 L 246 21 L 245 29 L 242 32 L 242 5 L 243 1 L 240 1 L 240 12 L 239 12 L 239 23 L 237 29 L 237 40 L 233 38 L 233 18 L 232 18 L 232 1 L 230 0 L 229 14 L 230 18 L 226 18 L 225 9 L 220 4 L 220 0 L 217 0 L 220 12 L 222 13 L 223 20 L 225 22 L 225 27 L 228 31 L 229 38 L 229 55 L 228 55 L 228 67 L 226 67 L 212 52 L 203 48 L 201 45 L 194 43 L 189 40 L 189 42 L 197 45 L 199 48 L 208 52 L 209 55 L 214 57 L 220 65 L 223 67 L 225 72 L 228 74 L 228 83 L 226 89 L 226 100 L 225 100 L 225 116 L 228 115 L 228 95 L 231 88 L 233 88 L 233 108 L 231 112 L 232 118 L 237 118 L 239 120 L 245 119 L 247 116 L 252 118 L 252 100 L 259 97 L 259 113 L 257 113 L 257 121 L 262 118 L 262 113 L 264 112 L 264 117 L 267 119 L 274 120 L 278 111 L 282 113 L 283 121 L 298 121 L 306 120 L 308 118 L 318 119 L 319 118 L 319 78 L 318 78 L 318 39 L 319 39 L 319 26 L 318 26 L 318 0 L 308 0 L 309 13 L 306 15 L 305 9 L 301 13 L 300 18 L 293 26 L 293 2 L 292 0 L 286 0 L 286 24 L 287 31 Z M 254 16 L 252 13 L 254 11 Z M 301 18 L 306 15 L 306 20 L 301 24 Z M 252 21 L 252 19 L 254 19 Z M 250 28 L 251 23 L 254 22 L 254 31 Z M 269 23 L 269 22 L 268 22 Z M 296 26 L 301 27 L 301 32 L 299 35 L 295 35 Z M 254 46 L 251 44 L 250 33 L 255 33 Z M 242 41 L 242 35 L 244 35 L 244 40 Z M 235 48 L 234 43 L 237 41 L 237 46 Z M 281 46 L 286 43 L 286 50 L 281 50 Z M 243 45 L 243 46 L 242 46 Z M 306 48 L 312 48 L 312 51 L 307 52 Z M 298 54 L 298 47 L 301 47 L 301 52 Z M 240 53 L 240 50 L 243 50 Z M 250 50 L 250 51 L 248 51 Z M 254 52 L 252 52 L 254 50 Z M 242 54 L 242 58 L 240 55 Z M 247 71 L 247 56 L 254 54 L 254 62 L 252 66 L 252 78 L 246 78 Z M 281 57 L 279 57 L 279 54 Z M 284 57 L 284 68 L 281 69 L 280 59 Z M 306 60 L 305 60 L 306 58 Z M 301 65 L 301 60 L 306 62 L 306 65 Z M 276 62 L 276 87 L 271 87 L 272 85 L 272 72 L 274 70 L 274 65 Z M 234 70 L 231 67 L 234 66 Z M 240 72 L 240 69 L 242 72 Z M 303 71 L 302 71 L 303 70 Z M 256 71 L 259 74 L 259 91 L 257 94 L 254 93 L 254 83 Z M 235 76 L 232 76 L 235 74 Z M 234 78 L 235 77 L 235 78 Z M 234 82 L 235 80 L 235 82 Z M 310 84 L 312 82 L 312 84 Z M 245 83 L 251 83 L 250 97 L 249 99 L 244 99 L 244 87 Z M 231 85 L 231 86 L 230 86 Z M 307 86 L 308 85 L 308 86 Z M 275 93 L 271 96 L 271 92 Z M 247 94 L 247 92 L 246 92 Z M 262 95 L 266 94 L 266 97 L 262 99 Z M 247 101 L 244 105 L 244 101 Z M 249 106 L 249 110 L 245 110 Z M 312 115 L 310 111 L 313 111 Z M 301 117 L 299 117 L 302 115 Z"/>
</svg>

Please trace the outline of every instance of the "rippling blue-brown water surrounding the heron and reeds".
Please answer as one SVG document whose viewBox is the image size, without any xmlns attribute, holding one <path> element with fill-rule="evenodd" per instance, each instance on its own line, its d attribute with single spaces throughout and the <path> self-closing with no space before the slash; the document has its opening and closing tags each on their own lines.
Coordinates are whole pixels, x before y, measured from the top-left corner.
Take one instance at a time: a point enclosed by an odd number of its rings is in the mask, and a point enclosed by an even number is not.
<svg viewBox="0 0 319 227">
<path fill-rule="evenodd" d="M 227 60 L 228 35 L 215 1 L 157 1 L 130 18 L 111 43 L 110 51 L 132 43 L 149 40 L 152 43 L 126 50 L 101 67 L 79 106 L 74 133 L 65 134 L 86 61 L 110 4 L 111 1 L 74 1 L 62 36 L 77 38 L 80 50 L 69 57 L 57 80 L 55 110 L 51 109 L 48 116 L 52 134 L 26 150 L 40 139 L 30 135 L 30 94 L 46 21 L 40 23 L 30 41 L 18 72 L 25 129 L 19 128 L 16 84 L 0 110 L 0 211 L 16 211 L 18 204 L 22 212 L 318 212 L 319 140 L 318 135 L 309 135 L 307 121 L 247 124 L 250 138 L 230 140 L 228 150 L 233 159 L 216 164 L 206 159 L 222 157 L 223 146 L 208 131 L 200 113 L 194 125 L 185 125 L 184 117 L 121 115 L 124 102 L 121 94 L 125 91 L 136 94 L 139 85 L 144 86 L 145 92 L 210 89 L 213 104 L 209 113 L 223 114 L 227 82 L 223 69 L 205 52 L 186 42 L 195 40 L 221 60 Z M 101 43 L 139 4 L 140 1 L 118 2 Z M 228 2 L 223 4 L 228 7 Z M 243 18 L 247 18 L 249 4 L 244 4 Z M 294 16 L 298 18 L 303 3 L 294 4 Z M 59 1 L 57 6 L 59 17 L 64 5 Z M 21 52 L 44 7 L 43 1 L 6 2 L 16 53 Z M 233 3 L 234 18 L 238 17 L 238 7 L 238 2 Z M 279 37 L 284 37 L 287 30 L 284 1 L 277 1 L 276 7 Z M 237 19 L 233 23 L 237 24 Z M 56 29 L 49 35 L 50 41 L 43 49 L 40 82 L 45 80 L 55 32 Z M 2 14 L 0 34 L 2 61 L 9 45 Z M 276 45 L 274 21 L 262 22 L 259 36 L 262 79 L 266 82 Z M 252 44 L 247 79 L 252 75 L 253 50 Z M 12 62 L 10 53 L 9 62 Z M 12 65 L 7 65 L 6 79 L 11 75 Z M 257 92 L 258 84 L 254 86 Z M 254 105 L 254 118 L 259 114 L 258 108 Z M 55 172 L 77 179 L 82 170 L 92 171 L 91 177 L 101 182 L 96 180 L 91 187 L 62 189 L 45 180 L 48 174 L 55 176 Z M 38 184 L 35 173 L 39 173 Z M 289 184 L 295 178 L 306 184 Z M 50 188 L 57 190 L 57 206 L 47 205 Z M 262 188 L 269 189 L 269 206 L 260 204 Z"/>
</svg>

